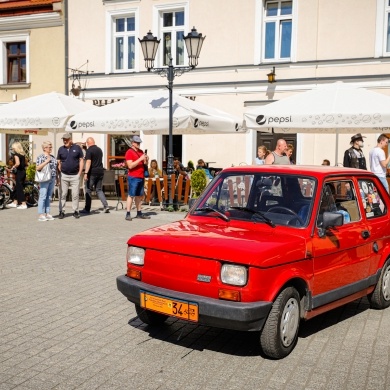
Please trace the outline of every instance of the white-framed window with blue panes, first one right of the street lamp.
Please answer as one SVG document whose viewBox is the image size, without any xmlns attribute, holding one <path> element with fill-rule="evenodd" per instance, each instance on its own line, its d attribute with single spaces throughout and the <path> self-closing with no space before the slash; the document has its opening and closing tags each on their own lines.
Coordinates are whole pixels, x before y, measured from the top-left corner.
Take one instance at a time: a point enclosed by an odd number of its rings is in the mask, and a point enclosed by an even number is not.
<svg viewBox="0 0 390 390">
<path fill-rule="evenodd" d="M 291 0 L 265 0 L 262 34 L 264 60 L 291 58 L 292 8 Z"/>
</svg>

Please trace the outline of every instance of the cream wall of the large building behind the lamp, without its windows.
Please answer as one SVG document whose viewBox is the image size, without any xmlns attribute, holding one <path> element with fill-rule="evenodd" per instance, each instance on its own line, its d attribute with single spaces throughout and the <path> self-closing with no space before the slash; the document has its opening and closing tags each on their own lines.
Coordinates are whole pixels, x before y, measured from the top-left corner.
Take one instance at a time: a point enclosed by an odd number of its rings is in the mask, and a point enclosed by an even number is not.
<svg viewBox="0 0 390 390">
<path fill-rule="evenodd" d="M 390 95 L 390 58 L 383 53 L 383 0 L 294 0 L 293 4 L 291 60 L 275 62 L 261 60 L 261 0 L 69 0 L 69 65 L 77 68 L 88 60 L 93 73 L 83 81 L 86 101 L 123 99 L 165 88 L 165 78 L 145 72 L 138 42 L 135 71 L 112 72 L 110 16 L 134 12 L 137 37 L 143 37 L 149 29 L 158 34 L 158 12 L 164 6 L 183 7 L 187 30 L 195 26 L 206 39 L 198 67 L 175 79 L 175 93 L 195 96 L 197 102 L 240 117 L 248 102 L 252 108 L 256 102 L 263 105 L 335 81 Z M 266 75 L 273 66 L 277 82 L 268 84 Z M 366 135 L 368 155 L 377 134 Z M 161 136 L 142 137 L 150 158 L 161 163 Z M 338 140 L 336 158 L 335 135 L 299 134 L 297 163 L 318 165 L 324 158 L 341 163 L 350 135 L 341 134 Z M 186 164 L 203 158 L 227 167 L 250 163 L 256 148 L 255 132 L 186 135 L 182 160 Z"/>
</svg>

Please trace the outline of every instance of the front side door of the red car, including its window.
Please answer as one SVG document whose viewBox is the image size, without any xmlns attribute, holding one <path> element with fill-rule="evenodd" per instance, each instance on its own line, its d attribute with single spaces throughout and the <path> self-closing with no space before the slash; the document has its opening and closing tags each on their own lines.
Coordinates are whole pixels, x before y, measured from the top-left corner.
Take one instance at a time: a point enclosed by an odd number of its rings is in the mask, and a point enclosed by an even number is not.
<svg viewBox="0 0 390 390">
<path fill-rule="evenodd" d="M 367 277 L 371 250 L 367 222 L 360 213 L 358 194 L 352 179 L 332 179 L 323 184 L 317 228 L 312 241 L 314 307 L 360 291 L 362 280 Z M 321 235 L 324 211 L 342 214 L 344 223 L 327 229 Z"/>
</svg>

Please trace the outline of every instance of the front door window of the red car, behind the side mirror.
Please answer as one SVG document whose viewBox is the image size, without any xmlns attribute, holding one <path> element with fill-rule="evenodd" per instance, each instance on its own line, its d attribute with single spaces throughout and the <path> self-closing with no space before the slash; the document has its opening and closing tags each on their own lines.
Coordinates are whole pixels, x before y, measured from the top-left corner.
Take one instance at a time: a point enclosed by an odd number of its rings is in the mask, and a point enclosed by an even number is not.
<svg viewBox="0 0 390 390">
<path fill-rule="evenodd" d="M 342 214 L 345 224 L 360 220 L 356 191 L 351 180 L 332 180 L 324 183 L 317 226 L 321 226 L 325 211 Z"/>
</svg>

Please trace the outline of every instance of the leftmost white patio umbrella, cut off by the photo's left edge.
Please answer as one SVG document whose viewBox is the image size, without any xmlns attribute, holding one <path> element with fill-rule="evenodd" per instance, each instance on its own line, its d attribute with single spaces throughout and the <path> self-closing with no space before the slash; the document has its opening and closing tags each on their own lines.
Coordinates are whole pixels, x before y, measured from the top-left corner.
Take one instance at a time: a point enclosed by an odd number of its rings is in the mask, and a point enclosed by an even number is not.
<svg viewBox="0 0 390 390">
<path fill-rule="evenodd" d="M 7 133 L 38 133 L 64 130 L 69 118 L 91 105 L 81 100 L 50 92 L 19 100 L 0 107 L 0 131 Z"/>
</svg>

